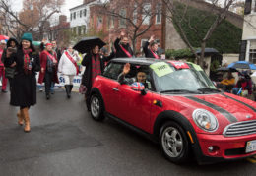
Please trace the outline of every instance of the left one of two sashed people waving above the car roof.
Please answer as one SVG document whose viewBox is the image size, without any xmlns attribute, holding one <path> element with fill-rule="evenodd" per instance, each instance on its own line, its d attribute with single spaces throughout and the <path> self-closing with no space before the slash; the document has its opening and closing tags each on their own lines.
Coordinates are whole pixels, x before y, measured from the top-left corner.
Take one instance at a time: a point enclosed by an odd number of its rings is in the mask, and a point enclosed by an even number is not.
<svg viewBox="0 0 256 176">
<path fill-rule="evenodd" d="M 129 39 L 123 31 L 114 41 L 114 47 L 116 50 L 116 57 L 133 57 L 133 50 L 130 47 Z"/>
</svg>

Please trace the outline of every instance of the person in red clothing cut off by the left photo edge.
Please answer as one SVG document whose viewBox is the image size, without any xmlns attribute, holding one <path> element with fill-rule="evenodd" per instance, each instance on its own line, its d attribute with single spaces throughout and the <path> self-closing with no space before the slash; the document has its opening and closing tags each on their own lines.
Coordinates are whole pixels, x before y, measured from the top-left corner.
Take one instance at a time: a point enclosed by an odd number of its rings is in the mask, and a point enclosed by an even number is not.
<svg viewBox="0 0 256 176">
<path fill-rule="evenodd" d="M 0 79 L 2 78 L 2 92 L 7 92 L 6 90 L 7 78 L 5 77 L 5 67 L 4 67 L 4 63 L 2 62 L 5 46 L 6 46 L 6 41 L 1 40 L 0 41 Z"/>
</svg>

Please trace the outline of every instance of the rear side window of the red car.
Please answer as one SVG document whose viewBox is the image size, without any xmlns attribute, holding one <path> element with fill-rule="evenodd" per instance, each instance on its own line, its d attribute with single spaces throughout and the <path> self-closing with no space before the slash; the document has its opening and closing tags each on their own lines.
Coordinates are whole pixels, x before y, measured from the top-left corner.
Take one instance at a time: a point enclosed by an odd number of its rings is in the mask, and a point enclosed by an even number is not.
<svg viewBox="0 0 256 176">
<path fill-rule="evenodd" d="M 105 67 L 102 75 L 109 79 L 117 80 L 117 77 L 122 72 L 122 69 L 122 63 L 110 63 Z"/>
</svg>

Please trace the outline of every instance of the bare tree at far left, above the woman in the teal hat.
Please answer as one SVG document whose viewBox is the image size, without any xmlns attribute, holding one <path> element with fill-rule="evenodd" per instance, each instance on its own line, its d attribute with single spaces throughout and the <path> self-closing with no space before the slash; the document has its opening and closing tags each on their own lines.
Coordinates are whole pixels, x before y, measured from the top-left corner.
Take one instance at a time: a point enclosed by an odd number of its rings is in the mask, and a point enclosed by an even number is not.
<svg viewBox="0 0 256 176">
<path fill-rule="evenodd" d="M 38 35 L 38 39 L 42 39 L 45 24 L 50 18 L 60 12 L 60 7 L 64 0 L 32 0 L 23 2 L 22 11 L 17 14 L 12 10 L 12 0 L 1 0 L 0 9 L 6 18 L 6 26 L 14 35 L 20 35 L 24 31 L 31 31 Z M 31 9 L 31 5 L 33 8 Z M 15 26 L 13 26 L 15 24 Z M 14 31 L 17 30 L 17 34 Z M 22 31 L 22 32 L 21 32 Z M 19 38 L 19 36 L 17 36 Z"/>
</svg>

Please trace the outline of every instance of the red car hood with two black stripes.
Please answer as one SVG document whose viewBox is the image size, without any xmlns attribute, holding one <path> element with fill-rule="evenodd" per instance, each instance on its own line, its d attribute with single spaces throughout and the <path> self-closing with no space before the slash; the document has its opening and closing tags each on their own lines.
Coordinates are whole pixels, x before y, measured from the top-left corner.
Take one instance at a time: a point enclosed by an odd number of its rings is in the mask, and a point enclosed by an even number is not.
<svg viewBox="0 0 256 176">
<path fill-rule="evenodd" d="M 256 103 L 230 93 L 178 96 L 164 94 L 163 96 L 170 100 L 167 102 L 172 102 L 171 107 L 168 108 L 188 117 L 191 123 L 193 123 L 192 113 L 195 109 L 206 109 L 213 113 L 220 125 L 217 133 L 222 133 L 224 128 L 231 123 L 256 120 Z"/>
</svg>

